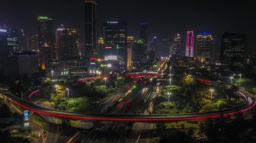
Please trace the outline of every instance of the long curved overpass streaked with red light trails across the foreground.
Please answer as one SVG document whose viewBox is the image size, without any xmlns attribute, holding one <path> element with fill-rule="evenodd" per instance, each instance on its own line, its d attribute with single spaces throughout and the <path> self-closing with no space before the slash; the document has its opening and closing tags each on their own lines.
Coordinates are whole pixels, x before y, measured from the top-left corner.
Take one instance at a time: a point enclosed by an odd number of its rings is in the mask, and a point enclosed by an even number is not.
<svg viewBox="0 0 256 143">
<path fill-rule="evenodd" d="M 36 96 L 40 90 L 32 91 L 27 95 L 30 97 Z M 245 99 L 245 103 L 240 106 L 235 106 L 227 110 L 219 110 L 216 112 L 208 113 L 188 113 L 188 114 L 174 114 L 174 115 L 132 115 L 132 114 L 98 114 L 98 113 L 71 113 L 62 110 L 50 110 L 37 106 L 34 103 L 30 103 L 28 100 L 15 97 L 12 94 L 0 92 L 5 100 L 9 100 L 12 103 L 18 104 L 24 110 L 30 110 L 31 112 L 43 114 L 46 116 L 55 116 L 62 119 L 82 119 L 93 121 L 123 121 L 123 122 L 171 122 L 171 121 L 183 121 L 183 120 L 196 120 L 207 118 L 218 118 L 219 116 L 231 116 L 237 113 L 245 113 L 251 110 L 256 105 L 256 102 L 247 97 L 243 92 L 238 91 Z"/>
</svg>

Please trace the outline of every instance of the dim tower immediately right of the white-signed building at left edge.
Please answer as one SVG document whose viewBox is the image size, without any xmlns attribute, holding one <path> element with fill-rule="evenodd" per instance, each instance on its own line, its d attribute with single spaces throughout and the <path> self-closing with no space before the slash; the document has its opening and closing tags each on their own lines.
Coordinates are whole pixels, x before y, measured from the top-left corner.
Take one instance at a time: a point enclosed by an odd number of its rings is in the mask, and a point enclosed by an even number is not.
<svg viewBox="0 0 256 143">
<path fill-rule="evenodd" d="M 18 54 L 19 45 L 18 45 L 18 31 L 17 30 L 10 30 L 8 32 L 7 46 L 8 46 L 9 56 Z"/>
</svg>

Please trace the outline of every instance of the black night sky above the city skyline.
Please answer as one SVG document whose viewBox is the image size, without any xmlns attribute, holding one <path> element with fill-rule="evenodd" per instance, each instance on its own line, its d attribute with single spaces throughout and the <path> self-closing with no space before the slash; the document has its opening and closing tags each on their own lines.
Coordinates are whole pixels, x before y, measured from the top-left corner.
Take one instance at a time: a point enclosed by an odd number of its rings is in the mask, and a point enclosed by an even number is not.
<svg viewBox="0 0 256 143">
<path fill-rule="evenodd" d="M 252 49 L 256 40 L 256 5 L 251 0 L 98 0 L 98 33 L 107 20 L 128 22 L 128 34 L 139 36 L 139 22 L 149 24 L 149 37 L 173 40 L 176 32 L 210 30 L 220 47 L 222 33 L 247 33 Z M 37 16 L 47 15 L 54 25 L 79 27 L 83 35 L 83 0 L 1 0 L 0 25 L 37 32 Z"/>
</svg>

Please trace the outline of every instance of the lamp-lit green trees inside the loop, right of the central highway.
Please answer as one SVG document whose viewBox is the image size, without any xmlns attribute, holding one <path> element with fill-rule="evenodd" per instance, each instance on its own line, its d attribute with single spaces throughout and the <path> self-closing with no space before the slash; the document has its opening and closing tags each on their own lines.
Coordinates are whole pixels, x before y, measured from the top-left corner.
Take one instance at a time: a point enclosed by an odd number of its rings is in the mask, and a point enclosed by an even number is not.
<svg viewBox="0 0 256 143">
<path fill-rule="evenodd" d="M 223 110 L 242 103 L 234 89 L 214 87 L 211 100 L 210 86 L 206 84 L 190 84 L 181 87 L 168 85 L 162 87 L 162 97 L 155 101 L 155 113 L 195 113 Z M 166 102 L 170 95 L 170 102 Z M 167 104 L 171 104 L 165 106 Z"/>
</svg>

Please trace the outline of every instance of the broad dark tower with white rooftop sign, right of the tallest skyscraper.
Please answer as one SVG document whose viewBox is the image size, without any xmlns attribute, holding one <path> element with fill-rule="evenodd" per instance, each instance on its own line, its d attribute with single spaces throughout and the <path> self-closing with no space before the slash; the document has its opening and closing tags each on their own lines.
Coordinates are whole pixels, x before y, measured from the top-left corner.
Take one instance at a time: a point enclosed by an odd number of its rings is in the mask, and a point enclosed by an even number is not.
<svg viewBox="0 0 256 143">
<path fill-rule="evenodd" d="M 115 57 L 117 70 L 126 70 L 127 61 L 127 24 L 126 21 L 107 21 L 103 24 L 104 56 Z M 108 58 L 107 58 L 108 59 Z M 112 59 L 112 58 L 111 58 Z"/>
</svg>

